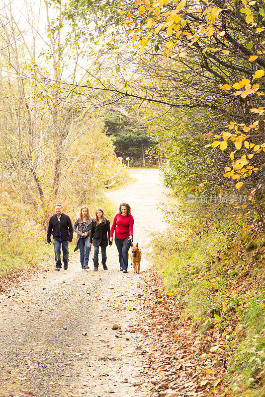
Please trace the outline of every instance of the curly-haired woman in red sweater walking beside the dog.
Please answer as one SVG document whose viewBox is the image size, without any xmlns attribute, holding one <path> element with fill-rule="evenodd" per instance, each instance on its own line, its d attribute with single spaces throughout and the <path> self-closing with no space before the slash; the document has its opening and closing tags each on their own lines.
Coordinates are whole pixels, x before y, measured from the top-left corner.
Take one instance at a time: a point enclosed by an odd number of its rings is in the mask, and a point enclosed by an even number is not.
<svg viewBox="0 0 265 397">
<path fill-rule="evenodd" d="M 119 253 L 120 271 L 128 273 L 128 253 L 133 240 L 133 217 L 131 207 L 127 202 L 119 206 L 119 213 L 115 215 L 110 230 L 110 241 L 113 241 L 115 232 L 115 244 Z"/>
</svg>

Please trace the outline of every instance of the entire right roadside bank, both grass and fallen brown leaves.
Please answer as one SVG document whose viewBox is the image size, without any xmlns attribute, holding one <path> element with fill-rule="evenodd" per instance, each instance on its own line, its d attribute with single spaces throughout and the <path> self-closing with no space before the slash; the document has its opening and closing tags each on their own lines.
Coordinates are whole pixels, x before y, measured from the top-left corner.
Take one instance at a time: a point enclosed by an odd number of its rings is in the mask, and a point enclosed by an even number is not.
<svg viewBox="0 0 265 397">
<path fill-rule="evenodd" d="M 185 396 L 265 395 L 265 232 L 231 225 L 190 223 L 153 239 L 146 345 L 154 370 L 171 372 L 164 387 L 154 380 L 158 396 L 185 385 Z"/>
</svg>

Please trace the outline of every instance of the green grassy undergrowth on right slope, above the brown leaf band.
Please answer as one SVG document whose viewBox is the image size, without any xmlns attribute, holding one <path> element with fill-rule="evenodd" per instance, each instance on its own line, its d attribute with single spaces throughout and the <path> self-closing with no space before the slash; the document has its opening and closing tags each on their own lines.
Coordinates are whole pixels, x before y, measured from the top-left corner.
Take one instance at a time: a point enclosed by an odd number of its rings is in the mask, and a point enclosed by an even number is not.
<svg viewBox="0 0 265 397">
<path fill-rule="evenodd" d="M 192 320 L 198 356 L 214 353 L 223 367 L 212 391 L 265 396 L 265 230 L 258 221 L 235 226 L 228 212 L 221 215 L 218 222 L 171 225 L 154 236 L 150 256 L 164 282 L 161 294 Z M 209 376 L 215 373 L 213 367 Z"/>
</svg>

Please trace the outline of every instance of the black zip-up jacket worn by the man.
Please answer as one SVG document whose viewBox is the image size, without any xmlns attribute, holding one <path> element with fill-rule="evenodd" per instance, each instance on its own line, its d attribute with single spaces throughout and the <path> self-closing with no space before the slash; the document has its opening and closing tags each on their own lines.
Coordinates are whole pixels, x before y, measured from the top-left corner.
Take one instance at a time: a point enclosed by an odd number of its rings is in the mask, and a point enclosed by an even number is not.
<svg viewBox="0 0 265 397">
<path fill-rule="evenodd" d="M 72 241 L 73 240 L 73 225 L 68 215 L 62 212 L 60 223 L 57 215 L 50 217 L 49 226 L 47 230 L 47 241 L 50 243 L 51 235 L 58 241 Z"/>
</svg>

